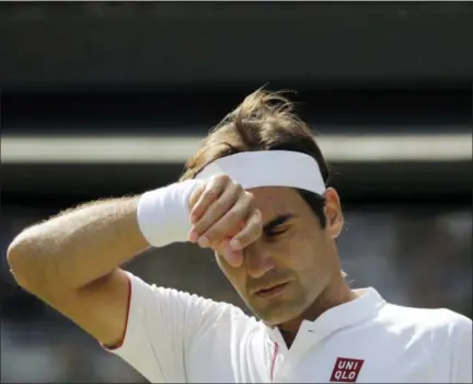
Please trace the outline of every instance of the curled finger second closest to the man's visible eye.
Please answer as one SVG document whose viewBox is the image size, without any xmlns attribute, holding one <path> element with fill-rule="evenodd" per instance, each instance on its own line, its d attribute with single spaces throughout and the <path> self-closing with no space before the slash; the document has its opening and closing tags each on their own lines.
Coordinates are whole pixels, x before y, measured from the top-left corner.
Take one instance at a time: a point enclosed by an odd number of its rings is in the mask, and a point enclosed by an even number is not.
<svg viewBox="0 0 473 384">
<path fill-rule="evenodd" d="M 198 239 L 199 246 L 218 246 L 224 238 L 233 237 L 241 230 L 241 222 L 246 221 L 252 210 L 253 196 L 244 193 L 217 223 Z"/>
</svg>

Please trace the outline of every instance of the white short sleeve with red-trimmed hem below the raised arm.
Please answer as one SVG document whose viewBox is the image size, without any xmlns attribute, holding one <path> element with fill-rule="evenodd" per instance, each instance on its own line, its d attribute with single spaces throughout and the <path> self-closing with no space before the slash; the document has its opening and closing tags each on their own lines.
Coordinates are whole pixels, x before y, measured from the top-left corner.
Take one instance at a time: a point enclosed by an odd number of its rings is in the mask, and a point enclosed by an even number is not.
<svg viewBox="0 0 473 384">
<path fill-rule="evenodd" d="M 186 355 L 194 336 L 236 308 L 149 285 L 131 273 L 128 279 L 130 303 L 124 340 L 117 348 L 106 349 L 152 383 L 186 382 Z"/>
</svg>

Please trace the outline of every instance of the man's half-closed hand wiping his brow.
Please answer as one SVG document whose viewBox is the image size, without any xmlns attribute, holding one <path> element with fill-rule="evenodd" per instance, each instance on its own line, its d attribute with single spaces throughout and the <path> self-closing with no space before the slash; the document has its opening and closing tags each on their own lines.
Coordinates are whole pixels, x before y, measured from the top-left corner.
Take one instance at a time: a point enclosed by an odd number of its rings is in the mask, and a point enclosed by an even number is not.
<svg viewBox="0 0 473 384">
<path fill-rule="evenodd" d="M 219 174 L 197 187 L 189 199 L 189 241 L 212 248 L 223 255 L 232 267 L 243 261 L 243 248 L 263 231 L 262 215 L 254 207 L 250 192 L 228 176 Z"/>
</svg>

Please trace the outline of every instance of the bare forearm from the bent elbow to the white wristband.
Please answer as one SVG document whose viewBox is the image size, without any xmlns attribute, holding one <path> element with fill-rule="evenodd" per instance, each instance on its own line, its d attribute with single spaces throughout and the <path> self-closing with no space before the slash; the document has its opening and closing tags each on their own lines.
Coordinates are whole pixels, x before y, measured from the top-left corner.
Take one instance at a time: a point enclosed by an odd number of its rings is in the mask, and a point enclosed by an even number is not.
<svg viewBox="0 0 473 384">
<path fill-rule="evenodd" d="M 9 262 L 24 285 L 83 287 L 146 250 L 137 222 L 138 197 L 89 203 L 21 233 Z"/>
</svg>

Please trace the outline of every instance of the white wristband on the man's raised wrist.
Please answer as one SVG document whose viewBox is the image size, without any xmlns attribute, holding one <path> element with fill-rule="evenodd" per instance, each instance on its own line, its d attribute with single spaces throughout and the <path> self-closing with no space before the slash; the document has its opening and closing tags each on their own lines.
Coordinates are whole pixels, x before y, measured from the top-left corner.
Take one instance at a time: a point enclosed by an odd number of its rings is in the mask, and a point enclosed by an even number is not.
<svg viewBox="0 0 473 384">
<path fill-rule="evenodd" d="M 186 180 L 146 192 L 138 201 L 138 226 L 153 247 L 184 242 L 191 229 L 189 199 L 203 180 Z"/>
</svg>

